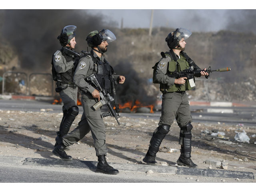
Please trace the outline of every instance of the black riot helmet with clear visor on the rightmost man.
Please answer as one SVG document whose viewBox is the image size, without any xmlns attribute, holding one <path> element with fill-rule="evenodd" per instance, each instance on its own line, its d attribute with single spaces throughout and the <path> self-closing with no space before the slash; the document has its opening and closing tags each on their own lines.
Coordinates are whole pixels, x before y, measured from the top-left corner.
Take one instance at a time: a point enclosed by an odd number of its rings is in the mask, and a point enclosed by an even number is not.
<svg viewBox="0 0 256 192">
<path fill-rule="evenodd" d="M 176 28 L 175 31 L 168 34 L 168 36 L 165 38 L 165 41 L 167 42 L 167 45 L 170 49 L 183 50 L 184 48 L 180 47 L 179 42 L 182 40 L 182 38 L 184 38 L 184 40 L 189 38 L 191 34 L 192 32 L 190 32 L 190 30 L 185 28 Z M 176 48 L 176 46 L 178 46 L 178 48 Z"/>
</svg>

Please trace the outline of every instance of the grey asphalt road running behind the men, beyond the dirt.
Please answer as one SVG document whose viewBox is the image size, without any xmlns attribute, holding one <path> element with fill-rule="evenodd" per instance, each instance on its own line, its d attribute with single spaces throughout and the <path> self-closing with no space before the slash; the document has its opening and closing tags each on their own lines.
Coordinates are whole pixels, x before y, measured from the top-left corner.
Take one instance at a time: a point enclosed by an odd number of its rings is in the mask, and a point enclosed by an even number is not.
<svg viewBox="0 0 256 192">
<path fill-rule="evenodd" d="M 82 106 L 79 113 L 82 114 Z M 38 100 L 0 100 L 2 110 L 21 110 L 40 112 L 41 109 L 52 109 L 48 112 L 62 112 L 62 105 L 53 105 L 49 101 Z M 190 106 L 193 122 L 220 122 L 227 124 L 256 124 L 255 107 L 209 107 L 209 106 Z M 106 110 L 106 108 L 102 108 Z M 213 112 L 214 110 L 219 112 Z M 161 112 L 150 113 L 120 113 L 121 116 L 150 118 L 159 120 Z"/>
</svg>

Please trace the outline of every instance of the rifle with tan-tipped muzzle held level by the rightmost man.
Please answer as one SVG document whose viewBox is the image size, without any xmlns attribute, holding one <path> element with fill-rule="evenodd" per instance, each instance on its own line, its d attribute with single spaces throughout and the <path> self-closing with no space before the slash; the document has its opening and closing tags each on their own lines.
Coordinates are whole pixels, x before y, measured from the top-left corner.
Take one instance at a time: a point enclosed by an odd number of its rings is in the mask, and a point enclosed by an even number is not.
<svg viewBox="0 0 256 192">
<path fill-rule="evenodd" d="M 196 84 L 194 82 L 194 76 L 199 76 L 201 71 L 207 72 L 209 75 L 206 75 L 205 78 L 209 79 L 211 72 L 215 72 L 215 71 L 219 71 L 219 72 L 231 71 L 231 68 L 230 67 L 226 67 L 226 68 L 219 68 L 219 69 L 216 69 L 216 70 L 212 70 L 211 66 L 209 66 L 209 68 L 206 69 L 206 70 L 194 70 L 194 67 L 190 66 L 190 68 L 188 68 L 188 69 L 185 69 L 185 70 L 183 70 L 181 72 L 178 72 L 176 74 L 168 74 L 168 76 L 172 77 L 172 78 L 186 77 L 186 78 L 188 78 L 188 82 L 189 82 L 191 88 L 193 88 L 194 86 L 196 86 Z"/>
</svg>

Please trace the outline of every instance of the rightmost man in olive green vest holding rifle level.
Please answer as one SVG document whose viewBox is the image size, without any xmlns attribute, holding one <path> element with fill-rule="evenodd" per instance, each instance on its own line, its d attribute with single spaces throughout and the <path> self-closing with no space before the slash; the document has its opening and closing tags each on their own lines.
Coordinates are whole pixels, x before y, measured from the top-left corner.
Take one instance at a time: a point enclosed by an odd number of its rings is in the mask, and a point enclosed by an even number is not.
<svg viewBox="0 0 256 192">
<path fill-rule="evenodd" d="M 196 167 L 191 160 L 191 130 L 193 128 L 191 122 L 192 117 L 188 103 L 188 96 L 186 90 L 190 90 L 190 82 L 186 77 L 171 78 L 167 74 L 174 74 L 184 69 L 193 66 L 195 69 L 200 69 L 193 60 L 184 52 L 186 42 L 185 40 L 192 33 L 185 28 L 177 28 L 166 37 L 166 42 L 170 48 L 169 52 L 162 52 L 162 58 L 155 65 L 153 76 L 154 80 L 160 84 L 160 91 L 162 92 L 162 114 L 158 123 L 158 128 L 153 133 L 150 140 L 150 146 L 146 153 L 144 162 L 147 164 L 156 164 L 156 153 L 159 150 L 160 144 L 166 134 L 170 130 L 170 126 L 176 121 L 180 127 L 181 145 L 180 157 L 178 158 L 178 165 Z M 206 70 L 206 68 L 204 69 Z M 201 72 L 200 76 L 207 76 L 205 71 Z M 155 78 L 155 79 L 154 79 Z"/>
</svg>

